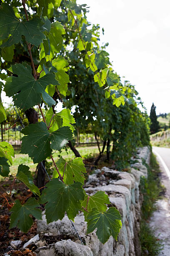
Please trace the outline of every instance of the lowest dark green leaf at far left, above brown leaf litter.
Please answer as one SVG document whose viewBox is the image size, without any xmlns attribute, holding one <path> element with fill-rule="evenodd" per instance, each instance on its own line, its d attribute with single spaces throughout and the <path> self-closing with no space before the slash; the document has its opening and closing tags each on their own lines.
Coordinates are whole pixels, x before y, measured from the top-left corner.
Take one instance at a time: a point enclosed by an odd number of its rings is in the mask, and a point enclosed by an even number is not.
<svg viewBox="0 0 170 256">
<path fill-rule="evenodd" d="M 33 220 L 30 217 L 30 214 L 33 215 L 36 219 L 42 219 L 42 212 L 35 198 L 29 198 L 28 201 L 21 205 L 19 200 L 15 201 L 15 205 L 10 209 L 10 212 L 13 212 L 10 216 L 10 228 L 18 226 L 21 231 L 26 233 L 33 224 Z"/>
</svg>

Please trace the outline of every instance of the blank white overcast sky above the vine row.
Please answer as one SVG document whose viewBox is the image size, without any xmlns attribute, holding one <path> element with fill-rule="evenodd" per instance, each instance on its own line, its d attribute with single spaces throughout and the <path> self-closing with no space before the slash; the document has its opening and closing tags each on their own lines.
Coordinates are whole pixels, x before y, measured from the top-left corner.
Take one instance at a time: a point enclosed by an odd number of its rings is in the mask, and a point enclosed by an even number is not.
<svg viewBox="0 0 170 256">
<path fill-rule="evenodd" d="M 170 112 L 170 1 L 77 0 L 100 24 L 113 69 L 135 85 L 150 113 Z"/>
</svg>

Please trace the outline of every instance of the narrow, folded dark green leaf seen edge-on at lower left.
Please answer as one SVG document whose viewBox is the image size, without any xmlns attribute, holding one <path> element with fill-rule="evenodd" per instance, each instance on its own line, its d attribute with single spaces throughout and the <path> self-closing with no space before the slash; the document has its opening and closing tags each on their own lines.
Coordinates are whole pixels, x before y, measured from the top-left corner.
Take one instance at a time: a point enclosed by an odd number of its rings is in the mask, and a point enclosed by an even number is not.
<svg viewBox="0 0 170 256">
<path fill-rule="evenodd" d="M 22 181 L 34 194 L 40 196 L 40 190 L 35 186 L 33 182 L 33 177 L 29 171 L 30 167 L 20 164 L 18 166 L 18 173 L 16 175 L 17 179 Z"/>
</svg>

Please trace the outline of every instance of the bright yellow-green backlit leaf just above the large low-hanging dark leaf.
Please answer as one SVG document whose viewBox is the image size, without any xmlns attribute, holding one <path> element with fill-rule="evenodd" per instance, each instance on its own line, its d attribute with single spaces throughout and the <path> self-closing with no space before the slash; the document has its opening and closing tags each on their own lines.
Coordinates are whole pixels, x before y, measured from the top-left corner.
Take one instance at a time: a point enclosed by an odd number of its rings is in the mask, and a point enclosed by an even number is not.
<svg viewBox="0 0 170 256">
<path fill-rule="evenodd" d="M 60 174 L 63 175 L 64 173 L 64 183 L 65 184 L 72 184 L 74 182 L 81 182 L 84 185 L 84 174 L 86 172 L 85 165 L 81 157 L 76 157 L 75 159 L 66 162 L 62 156 L 56 163 Z M 58 173 L 54 170 L 53 178 L 57 178 Z"/>
</svg>

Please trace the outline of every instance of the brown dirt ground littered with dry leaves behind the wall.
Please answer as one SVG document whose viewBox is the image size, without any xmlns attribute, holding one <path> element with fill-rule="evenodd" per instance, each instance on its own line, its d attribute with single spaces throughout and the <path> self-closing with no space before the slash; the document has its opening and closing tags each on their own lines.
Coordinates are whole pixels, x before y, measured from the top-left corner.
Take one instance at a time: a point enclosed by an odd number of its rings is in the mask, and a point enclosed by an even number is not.
<svg viewBox="0 0 170 256">
<path fill-rule="evenodd" d="M 87 175 L 92 173 L 94 166 L 95 159 L 89 158 L 83 160 Z M 114 166 L 114 162 L 110 161 L 107 162 L 105 159 L 105 156 L 102 157 L 98 163 L 98 165 L 95 167 L 95 169 L 100 169 L 103 166 Z M 10 192 L 11 191 L 11 197 L 13 200 L 19 199 L 20 202 L 24 203 L 28 200 L 28 198 L 34 196 L 32 195 L 32 192 L 30 192 L 30 189 L 25 186 L 22 182 L 15 179 L 15 177 L 9 177 L 5 178 L 3 181 L 0 182 L 0 256 L 4 255 L 4 253 L 9 253 L 11 256 L 34 256 L 35 253 L 33 252 L 36 248 L 31 248 L 31 251 L 29 249 L 23 249 L 24 243 L 26 243 L 30 238 L 34 237 L 37 234 L 37 226 L 36 226 L 36 220 L 34 219 L 34 223 L 28 233 L 23 233 L 19 230 L 19 228 L 9 228 L 10 227 L 10 208 L 13 206 L 13 202 L 11 202 L 10 198 L 7 197 L 6 193 L 2 191 L 2 189 L 5 189 L 5 191 Z M 44 210 L 44 206 L 41 206 L 41 210 Z M 64 237 L 57 237 L 57 236 L 46 236 L 43 237 L 46 241 L 46 244 L 55 243 L 57 241 L 60 241 L 61 239 L 64 239 Z M 11 241 L 20 240 L 22 243 L 20 244 L 19 248 L 17 250 L 14 250 L 10 246 Z"/>
</svg>

